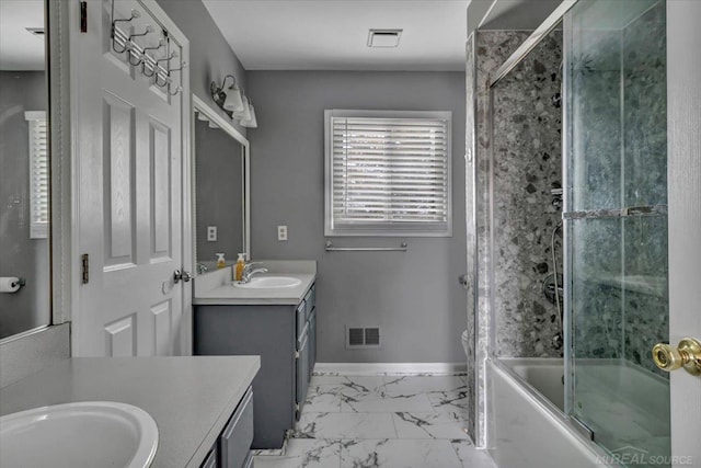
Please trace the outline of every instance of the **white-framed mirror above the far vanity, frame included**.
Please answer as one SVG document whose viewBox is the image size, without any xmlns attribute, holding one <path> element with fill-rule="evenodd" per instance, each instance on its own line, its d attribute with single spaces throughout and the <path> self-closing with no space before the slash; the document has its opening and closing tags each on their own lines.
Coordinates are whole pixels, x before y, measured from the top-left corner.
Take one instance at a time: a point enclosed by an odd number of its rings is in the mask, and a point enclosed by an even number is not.
<svg viewBox="0 0 701 468">
<path fill-rule="evenodd" d="M 194 274 L 250 252 L 250 155 L 245 139 L 226 118 L 193 95 Z"/>
</svg>

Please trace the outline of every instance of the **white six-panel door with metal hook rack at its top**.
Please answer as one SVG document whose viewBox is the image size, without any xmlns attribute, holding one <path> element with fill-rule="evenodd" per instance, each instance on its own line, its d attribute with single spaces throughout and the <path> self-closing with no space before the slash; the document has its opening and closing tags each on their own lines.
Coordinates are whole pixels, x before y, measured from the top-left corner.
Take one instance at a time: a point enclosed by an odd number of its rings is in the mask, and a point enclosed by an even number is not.
<svg viewBox="0 0 701 468">
<path fill-rule="evenodd" d="M 79 2 L 74 2 L 77 7 Z M 153 9 L 156 7 L 156 10 Z M 171 355 L 183 352 L 183 295 L 175 282 L 183 267 L 183 103 L 187 90 L 154 83 L 153 68 L 128 62 L 115 52 L 112 19 L 157 58 L 182 42 L 166 30 L 152 1 L 88 1 L 87 31 L 71 34 L 72 107 L 78 182 L 79 255 L 89 254 L 88 283 L 77 265 L 78 313 L 73 316 L 73 355 Z M 73 14 L 80 18 L 79 8 Z M 80 24 L 77 22 L 74 24 Z M 147 25 L 152 31 L 142 34 Z M 168 31 L 168 33 L 165 33 Z M 117 41 L 117 48 L 123 43 Z M 138 62 L 138 56 L 131 55 Z M 168 61 L 161 65 L 166 67 Z M 84 284 L 83 284 L 84 283 Z M 187 304 L 188 301 L 185 300 Z"/>
</svg>

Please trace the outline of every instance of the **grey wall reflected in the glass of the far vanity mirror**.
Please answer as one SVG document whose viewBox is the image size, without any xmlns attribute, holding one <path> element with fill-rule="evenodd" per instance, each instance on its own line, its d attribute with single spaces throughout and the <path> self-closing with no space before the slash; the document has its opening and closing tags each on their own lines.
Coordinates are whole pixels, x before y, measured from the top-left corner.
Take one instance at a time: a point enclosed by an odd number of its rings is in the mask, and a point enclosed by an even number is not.
<svg viewBox="0 0 701 468">
<path fill-rule="evenodd" d="M 198 262 L 214 262 L 223 252 L 227 264 L 243 252 L 243 146 L 207 122 L 195 123 L 195 175 Z M 217 226 L 217 241 L 207 240 L 207 226 Z"/>
</svg>

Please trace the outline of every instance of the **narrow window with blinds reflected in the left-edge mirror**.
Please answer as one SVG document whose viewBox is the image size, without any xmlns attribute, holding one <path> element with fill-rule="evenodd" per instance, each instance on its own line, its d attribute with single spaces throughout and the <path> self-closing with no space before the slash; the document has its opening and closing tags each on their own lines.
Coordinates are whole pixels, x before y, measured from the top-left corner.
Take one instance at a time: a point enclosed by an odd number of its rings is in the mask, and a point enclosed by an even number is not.
<svg viewBox="0 0 701 468">
<path fill-rule="evenodd" d="M 49 222 L 49 164 L 46 112 L 24 113 L 30 134 L 30 237 L 46 239 Z"/>
</svg>

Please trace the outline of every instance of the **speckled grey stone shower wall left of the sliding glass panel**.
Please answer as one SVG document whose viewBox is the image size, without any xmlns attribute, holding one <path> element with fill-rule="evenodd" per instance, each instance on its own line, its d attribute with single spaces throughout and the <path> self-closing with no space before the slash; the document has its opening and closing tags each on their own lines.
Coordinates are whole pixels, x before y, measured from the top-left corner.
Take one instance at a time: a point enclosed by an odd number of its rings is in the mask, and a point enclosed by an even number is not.
<svg viewBox="0 0 701 468">
<path fill-rule="evenodd" d="M 562 33 L 553 31 L 492 88 L 494 352 L 505 357 L 559 357 L 555 305 L 542 281 L 562 274 Z M 561 343 L 561 342 L 560 342 Z"/>
</svg>

